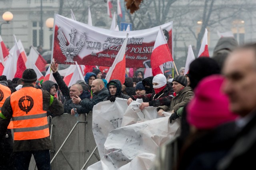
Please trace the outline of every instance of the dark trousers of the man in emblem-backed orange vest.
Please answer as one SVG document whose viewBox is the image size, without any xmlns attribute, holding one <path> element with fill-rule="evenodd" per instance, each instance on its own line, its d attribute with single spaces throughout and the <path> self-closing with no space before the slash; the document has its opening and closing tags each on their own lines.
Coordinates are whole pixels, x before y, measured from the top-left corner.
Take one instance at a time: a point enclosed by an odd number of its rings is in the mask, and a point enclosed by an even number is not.
<svg viewBox="0 0 256 170">
<path fill-rule="evenodd" d="M 14 152 L 14 170 L 28 170 L 32 154 L 38 170 L 51 170 L 49 150 Z"/>
</svg>

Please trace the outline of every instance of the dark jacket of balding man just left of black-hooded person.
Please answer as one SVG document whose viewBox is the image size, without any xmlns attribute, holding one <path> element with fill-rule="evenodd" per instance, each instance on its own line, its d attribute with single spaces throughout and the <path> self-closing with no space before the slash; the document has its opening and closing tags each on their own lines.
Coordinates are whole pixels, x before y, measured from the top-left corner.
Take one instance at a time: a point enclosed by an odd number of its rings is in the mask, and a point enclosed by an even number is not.
<svg viewBox="0 0 256 170">
<path fill-rule="evenodd" d="M 105 98 L 109 96 L 108 89 L 106 87 L 102 88 L 100 92 L 94 93 L 92 99 L 84 98 L 80 105 L 83 107 L 85 113 L 92 111 L 94 105 L 102 102 Z"/>
</svg>

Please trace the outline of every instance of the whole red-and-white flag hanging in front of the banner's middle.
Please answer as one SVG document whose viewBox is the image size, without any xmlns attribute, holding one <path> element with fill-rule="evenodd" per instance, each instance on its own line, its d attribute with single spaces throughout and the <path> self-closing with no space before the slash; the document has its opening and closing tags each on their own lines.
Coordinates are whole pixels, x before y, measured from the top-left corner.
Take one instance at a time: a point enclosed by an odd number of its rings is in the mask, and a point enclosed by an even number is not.
<svg viewBox="0 0 256 170">
<path fill-rule="evenodd" d="M 120 80 L 121 84 L 124 84 L 125 70 L 126 70 L 125 51 L 126 51 L 128 36 L 129 34 L 126 35 L 126 39 L 124 40 L 123 45 L 118 51 L 118 54 L 116 55 L 114 63 L 108 70 L 108 73 L 105 78 L 107 82 L 109 82 L 112 79 L 118 79 Z"/>
</svg>

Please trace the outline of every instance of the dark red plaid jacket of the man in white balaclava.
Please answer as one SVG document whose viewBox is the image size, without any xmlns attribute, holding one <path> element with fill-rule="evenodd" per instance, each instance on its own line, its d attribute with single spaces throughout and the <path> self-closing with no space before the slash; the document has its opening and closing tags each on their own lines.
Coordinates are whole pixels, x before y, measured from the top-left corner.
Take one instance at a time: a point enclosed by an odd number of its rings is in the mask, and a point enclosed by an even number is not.
<svg viewBox="0 0 256 170">
<path fill-rule="evenodd" d="M 131 98 L 132 100 L 142 99 L 143 102 L 149 102 L 149 106 L 154 107 L 168 105 L 173 98 L 173 88 L 170 83 L 167 83 L 166 87 L 158 94 L 153 92 L 152 94 L 131 96 Z"/>
</svg>

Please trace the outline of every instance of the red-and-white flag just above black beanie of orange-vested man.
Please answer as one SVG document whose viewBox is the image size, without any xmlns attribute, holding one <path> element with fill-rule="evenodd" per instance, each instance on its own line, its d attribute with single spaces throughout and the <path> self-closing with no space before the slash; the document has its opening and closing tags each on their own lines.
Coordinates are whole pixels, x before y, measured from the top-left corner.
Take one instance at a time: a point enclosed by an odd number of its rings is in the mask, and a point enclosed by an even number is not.
<svg viewBox="0 0 256 170">
<path fill-rule="evenodd" d="M 3 75 L 6 75 L 6 78 L 8 80 L 12 80 L 13 78 L 22 78 L 22 73 L 24 70 L 26 70 L 26 65 L 24 63 L 24 60 L 22 58 L 22 52 L 20 51 L 20 48 L 18 47 L 18 42 L 16 40 L 15 35 L 14 36 L 14 53 L 10 61 L 8 60 L 8 64 L 6 61 L 6 66 L 4 67 Z"/>
</svg>

